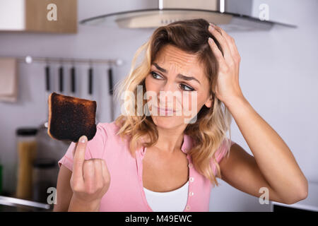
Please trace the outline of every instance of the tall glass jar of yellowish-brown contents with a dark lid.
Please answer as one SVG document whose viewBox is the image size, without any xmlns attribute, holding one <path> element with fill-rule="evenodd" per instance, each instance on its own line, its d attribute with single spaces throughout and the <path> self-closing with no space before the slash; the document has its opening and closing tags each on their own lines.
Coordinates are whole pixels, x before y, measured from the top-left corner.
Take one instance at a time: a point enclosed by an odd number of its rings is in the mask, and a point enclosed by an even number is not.
<svg viewBox="0 0 318 226">
<path fill-rule="evenodd" d="M 37 128 L 18 128 L 18 170 L 16 173 L 16 198 L 32 199 L 33 160 L 37 151 Z"/>
</svg>

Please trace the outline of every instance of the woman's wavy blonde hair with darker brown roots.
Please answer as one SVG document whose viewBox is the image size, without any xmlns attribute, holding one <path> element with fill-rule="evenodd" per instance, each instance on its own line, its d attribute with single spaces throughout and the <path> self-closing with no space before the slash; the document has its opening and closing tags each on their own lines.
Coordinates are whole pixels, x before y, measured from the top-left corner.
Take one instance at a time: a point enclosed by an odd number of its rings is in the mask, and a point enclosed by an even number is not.
<svg viewBox="0 0 318 226">
<path fill-rule="evenodd" d="M 211 32 L 208 32 L 208 22 L 204 19 L 180 20 L 169 25 L 157 28 L 151 35 L 148 42 L 144 43 L 134 54 L 131 62 L 129 75 L 114 85 L 115 99 L 122 104 L 122 93 L 134 93 L 135 99 L 125 96 L 124 102 L 128 102 L 131 106 L 127 109 L 128 114 L 121 114 L 115 120 L 115 124 L 120 127 L 117 135 L 121 138 L 129 136 L 129 149 L 131 155 L 134 156 L 136 148 L 141 145 L 151 147 L 158 141 L 158 131 L 151 116 L 145 114 L 136 115 L 137 109 L 137 85 L 143 85 L 143 96 L 146 92 L 145 79 L 151 72 L 151 64 L 155 60 L 156 54 L 165 44 L 172 44 L 184 52 L 195 54 L 200 63 L 203 63 L 208 82 L 213 97 L 213 106 L 208 108 L 204 105 L 197 114 L 196 122 L 187 124 L 184 133 L 192 138 L 193 146 L 188 150 L 188 154 L 192 157 L 193 165 L 197 172 L 209 179 L 211 184 L 218 186 L 216 176 L 221 178 L 220 167 L 216 161 L 216 150 L 225 141 L 227 153 L 230 150 L 230 139 L 227 139 L 226 133 L 230 133 L 230 124 L 232 115 L 223 102 L 218 100 L 213 90 L 216 86 L 216 78 L 218 74 L 218 63 L 216 57 L 208 45 L 208 37 L 212 37 L 223 53 L 218 40 L 216 40 Z M 141 63 L 136 66 L 136 61 L 144 52 Z M 129 99 L 129 100 L 128 100 Z M 143 100 L 143 107 L 146 100 Z M 122 105 L 120 105 L 122 106 Z M 133 107 L 134 106 L 134 107 Z M 144 136 L 150 138 L 150 142 L 142 143 Z M 211 169 L 211 160 L 216 165 L 217 175 L 213 174 Z"/>
</svg>

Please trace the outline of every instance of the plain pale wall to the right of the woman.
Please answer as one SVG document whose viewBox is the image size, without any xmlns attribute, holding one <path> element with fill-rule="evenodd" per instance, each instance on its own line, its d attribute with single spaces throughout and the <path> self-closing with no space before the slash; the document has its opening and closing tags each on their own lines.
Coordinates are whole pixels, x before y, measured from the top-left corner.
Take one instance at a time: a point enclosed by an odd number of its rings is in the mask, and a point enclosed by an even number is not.
<svg viewBox="0 0 318 226">
<path fill-rule="evenodd" d="M 269 4 L 271 20 L 298 28 L 230 33 L 242 58 L 240 85 L 249 103 L 287 143 L 307 179 L 318 182 L 318 1 L 254 1 L 254 9 L 261 3 Z M 235 123 L 232 139 L 252 154 Z M 220 183 L 211 194 L 211 211 L 269 210 L 258 198 Z"/>
</svg>

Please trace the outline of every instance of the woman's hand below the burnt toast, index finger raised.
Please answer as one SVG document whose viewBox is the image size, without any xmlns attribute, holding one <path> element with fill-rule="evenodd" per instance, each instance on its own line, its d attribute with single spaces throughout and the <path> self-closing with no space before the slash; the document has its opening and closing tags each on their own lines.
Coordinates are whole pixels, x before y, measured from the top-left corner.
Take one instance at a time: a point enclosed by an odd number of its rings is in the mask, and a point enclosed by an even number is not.
<svg viewBox="0 0 318 226">
<path fill-rule="evenodd" d="M 85 160 L 87 137 L 81 136 L 73 151 L 71 189 L 73 196 L 70 210 L 98 211 L 102 196 L 110 187 L 110 172 L 105 160 L 92 158 Z"/>
</svg>

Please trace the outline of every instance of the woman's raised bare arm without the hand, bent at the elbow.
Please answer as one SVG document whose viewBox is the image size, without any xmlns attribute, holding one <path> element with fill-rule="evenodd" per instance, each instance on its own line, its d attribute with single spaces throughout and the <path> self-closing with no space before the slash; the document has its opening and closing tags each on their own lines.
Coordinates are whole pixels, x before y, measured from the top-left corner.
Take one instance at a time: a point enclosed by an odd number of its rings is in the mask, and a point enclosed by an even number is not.
<svg viewBox="0 0 318 226">
<path fill-rule="evenodd" d="M 247 189 L 249 194 L 258 194 L 261 186 L 265 186 L 269 189 L 271 200 L 288 204 L 306 198 L 307 179 L 278 133 L 244 97 L 227 100 L 225 105 L 254 155 L 243 153 L 240 146 L 232 145 L 232 158 L 222 162 L 221 169 L 228 183 L 236 184 L 235 187 L 240 190 Z"/>
</svg>

